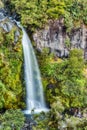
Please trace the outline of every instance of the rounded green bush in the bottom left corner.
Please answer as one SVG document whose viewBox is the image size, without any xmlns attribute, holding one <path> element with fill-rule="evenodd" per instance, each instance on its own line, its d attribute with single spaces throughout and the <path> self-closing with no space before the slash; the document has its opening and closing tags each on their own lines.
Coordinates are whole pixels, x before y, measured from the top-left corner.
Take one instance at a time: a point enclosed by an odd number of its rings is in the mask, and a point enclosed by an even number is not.
<svg viewBox="0 0 87 130">
<path fill-rule="evenodd" d="M 25 117 L 19 110 L 7 110 L 0 118 L 0 130 L 20 130 L 24 125 Z"/>
</svg>

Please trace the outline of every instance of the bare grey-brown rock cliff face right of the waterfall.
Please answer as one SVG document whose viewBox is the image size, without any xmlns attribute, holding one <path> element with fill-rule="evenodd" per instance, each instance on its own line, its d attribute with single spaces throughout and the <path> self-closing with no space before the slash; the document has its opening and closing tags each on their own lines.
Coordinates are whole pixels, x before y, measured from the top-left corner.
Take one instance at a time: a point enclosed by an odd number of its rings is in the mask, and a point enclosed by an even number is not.
<svg viewBox="0 0 87 130">
<path fill-rule="evenodd" d="M 66 32 L 63 19 L 49 21 L 48 26 L 43 30 L 37 30 L 33 35 L 36 47 L 39 51 L 43 48 L 49 48 L 58 57 L 67 57 L 69 50 L 87 48 L 87 28 L 82 25 L 80 28 Z"/>
</svg>

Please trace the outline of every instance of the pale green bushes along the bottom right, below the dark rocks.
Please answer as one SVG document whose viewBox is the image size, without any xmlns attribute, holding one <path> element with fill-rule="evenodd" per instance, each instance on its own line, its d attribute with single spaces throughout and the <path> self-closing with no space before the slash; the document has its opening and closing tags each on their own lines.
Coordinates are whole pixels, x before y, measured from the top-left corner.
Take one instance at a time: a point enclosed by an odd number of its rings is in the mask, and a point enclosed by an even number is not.
<svg viewBox="0 0 87 130">
<path fill-rule="evenodd" d="M 37 123 L 33 130 L 86 130 L 87 117 L 78 118 L 70 115 L 63 115 L 64 106 L 60 98 L 56 97 L 48 113 L 35 115 Z"/>
</svg>

